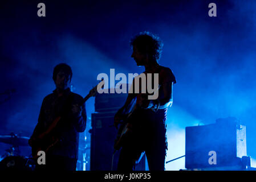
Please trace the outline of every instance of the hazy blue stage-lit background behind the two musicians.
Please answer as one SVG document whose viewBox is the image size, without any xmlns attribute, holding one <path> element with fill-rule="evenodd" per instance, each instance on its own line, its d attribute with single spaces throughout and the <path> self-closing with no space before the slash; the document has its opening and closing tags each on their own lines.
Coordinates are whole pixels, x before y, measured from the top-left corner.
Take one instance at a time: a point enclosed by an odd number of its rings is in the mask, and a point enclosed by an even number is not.
<svg viewBox="0 0 256 182">
<path fill-rule="evenodd" d="M 37 16 L 40 2 L 46 17 Z M 217 17 L 208 16 L 211 2 Z M 177 78 L 168 130 L 236 117 L 247 127 L 247 155 L 255 158 L 255 7 L 255 1 L 234 0 L 1 2 L 1 92 L 17 92 L 0 105 L 0 134 L 30 137 L 43 97 L 55 88 L 52 71 L 60 62 L 71 65 L 74 92 L 82 96 L 110 68 L 143 72 L 131 58 L 129 39 L 147 30 L 163 40 L 160 64 Z M 90 117 L 94 98 L 86 107 Z M 175 137 L 172 131 L 168 140 L 182 137 L 184 146 L 184 133 Z M 185 148 L 168 151 L 172 159 Z"/>
</svg>

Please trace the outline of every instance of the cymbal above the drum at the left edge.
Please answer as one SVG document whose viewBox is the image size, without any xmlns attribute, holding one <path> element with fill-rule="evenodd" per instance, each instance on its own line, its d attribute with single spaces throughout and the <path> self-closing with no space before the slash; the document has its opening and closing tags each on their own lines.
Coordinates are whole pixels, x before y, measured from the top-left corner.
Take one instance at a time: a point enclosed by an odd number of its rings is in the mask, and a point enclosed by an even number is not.
<svg viewBox="0 0 256 182">
<path fill-rule="evenodd" d="M 28 146 L 29 137 L 18 137 L 17 135 L 0 135 L 0 142 L 12 144 L 13 146 Z"/>
</svg>

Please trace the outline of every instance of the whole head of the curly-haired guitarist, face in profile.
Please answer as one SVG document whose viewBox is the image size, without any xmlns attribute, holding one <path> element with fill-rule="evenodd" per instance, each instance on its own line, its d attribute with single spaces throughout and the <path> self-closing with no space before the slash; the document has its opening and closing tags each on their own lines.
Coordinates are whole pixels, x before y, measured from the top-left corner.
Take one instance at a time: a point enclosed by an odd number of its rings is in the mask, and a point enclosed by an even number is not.
<svg viewBox="0 0 256 182">
<path fill-rule="evenodd" d="M 150 61 L 158 63 L 162 53 L 162 42 L 160 38 L 151 32 L 140 32 L 131 39 L 133 48 L 132 57 L 137 65 L 145 65 Z"/>
</svg>

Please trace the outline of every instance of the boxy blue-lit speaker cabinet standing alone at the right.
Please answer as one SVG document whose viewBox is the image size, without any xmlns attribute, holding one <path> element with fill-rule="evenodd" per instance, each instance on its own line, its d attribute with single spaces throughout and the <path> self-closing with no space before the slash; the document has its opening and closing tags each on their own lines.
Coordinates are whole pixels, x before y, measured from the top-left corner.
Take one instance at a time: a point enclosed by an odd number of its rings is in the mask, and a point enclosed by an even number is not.
<svg viewBox="0 0 256 182">
<path fill-rule="evenodd" d="M 240 166 L 246 156 L 246 127 L 230 119 L 186 127 L 185 167 Z"/>
</svg>

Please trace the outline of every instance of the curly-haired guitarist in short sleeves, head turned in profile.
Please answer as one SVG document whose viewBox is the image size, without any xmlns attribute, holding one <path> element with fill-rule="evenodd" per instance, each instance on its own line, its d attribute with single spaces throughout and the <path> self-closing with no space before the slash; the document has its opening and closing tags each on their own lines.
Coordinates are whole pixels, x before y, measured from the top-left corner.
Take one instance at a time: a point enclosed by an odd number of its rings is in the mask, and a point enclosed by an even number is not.
<svg viewBox="0 0 256 182">
<path fill-rule="evenodd" d="M 123 111 L 131 105 L 134 98 L 137 99 L 136 109 L 128 118 L 128 129 L 121 146 L 117 170 L 132 171 L 136 160 L 144 151 L 149 170 L 164 170 L 167 150 L 166 113 L 167 108 L 172 105 L 172 90 L 176 78 L 169 68 L 158 63 L 162 43 L 157 36 L 141 32 L 131 40 L 131 46 L 133 59 L 137 66 L 145 67 L 146 75 L 159 73 L 159 97 L 156 100 L 148 100 L 147 93 L 129 93 L 124 106 L 116 113 L 114 124 L 117 127 L 123 119 Z"/>
</svg>

